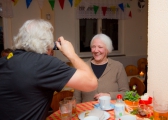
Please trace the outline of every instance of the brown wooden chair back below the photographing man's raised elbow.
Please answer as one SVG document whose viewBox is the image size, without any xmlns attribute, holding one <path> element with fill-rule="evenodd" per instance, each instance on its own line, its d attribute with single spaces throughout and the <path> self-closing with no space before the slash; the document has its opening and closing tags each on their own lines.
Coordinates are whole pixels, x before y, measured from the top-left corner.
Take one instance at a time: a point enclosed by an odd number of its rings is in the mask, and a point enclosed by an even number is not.
<svg viewBox="0 0 168 120">
<path fill-rule="evenodd" d="M 67 90 L 67 91 L 61 91 L 54 93 L 53 99 L 51 102 L 51 108 L 53 109 L 53 112 L 59 110 L 59 102 L 63 100 L 65 97 L 72 97 L 73 91 Z"/>
</svg>

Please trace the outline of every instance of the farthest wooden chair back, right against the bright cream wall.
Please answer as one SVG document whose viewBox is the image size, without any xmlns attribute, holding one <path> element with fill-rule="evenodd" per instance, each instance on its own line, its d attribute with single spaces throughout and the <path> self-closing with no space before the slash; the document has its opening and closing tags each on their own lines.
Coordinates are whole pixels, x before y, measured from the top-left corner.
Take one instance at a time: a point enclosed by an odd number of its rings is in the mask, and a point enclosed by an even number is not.
<svg viewBox="0 0 168 120">
<path fill-rule="evenodd" d="M 146 73 L 146 65 L 147 65 L 147 59 L 146 58 L 140 58 L 138 61 L 137 61 L 137 66 L 138 66 L 138 71 L 139 73 L 141 71 L 143 71 L 144 73 Z"/>
</svg>

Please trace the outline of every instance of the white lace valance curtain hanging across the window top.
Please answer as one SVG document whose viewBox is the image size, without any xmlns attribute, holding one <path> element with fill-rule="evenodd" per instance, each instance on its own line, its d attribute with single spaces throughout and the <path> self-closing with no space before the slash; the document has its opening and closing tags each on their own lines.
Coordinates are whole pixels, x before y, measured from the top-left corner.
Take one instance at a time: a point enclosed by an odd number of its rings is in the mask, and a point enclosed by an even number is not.
<svg viewBox="0 0 168 120">
<path fill-rule="evenodd" d="M 127 19 L 130 0 L 82 0 L 76 7 L 76 18 Z"/>
</svg>

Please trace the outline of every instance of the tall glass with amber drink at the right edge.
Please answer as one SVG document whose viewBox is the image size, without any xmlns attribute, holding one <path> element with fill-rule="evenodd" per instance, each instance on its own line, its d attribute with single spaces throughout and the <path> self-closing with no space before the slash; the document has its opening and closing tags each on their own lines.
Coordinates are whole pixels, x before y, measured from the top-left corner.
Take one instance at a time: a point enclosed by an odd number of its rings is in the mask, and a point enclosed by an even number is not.
<svg viewBox="0 0 168 120">
<path fill-rule="evenodd" d="M 154 120 L 168 120 L 168 100 L 163 91 L 153 92 L 153 117 Z"/>
</svg>

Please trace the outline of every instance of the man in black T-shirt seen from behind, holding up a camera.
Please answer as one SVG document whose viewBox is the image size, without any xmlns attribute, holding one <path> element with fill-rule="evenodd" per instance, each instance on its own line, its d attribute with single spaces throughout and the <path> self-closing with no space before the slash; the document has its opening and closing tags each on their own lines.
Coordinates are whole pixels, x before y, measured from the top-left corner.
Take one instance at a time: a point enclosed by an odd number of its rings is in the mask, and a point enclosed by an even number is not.
<svg viewBox="0 0 168 120">
<path fill-rule="evenodd" d="M 51 56 L 52 25 L 28 20 L 14 37 L 13 52 L 0 58 L 0 120 L 45 120 L 54 91 L 66 85 L 85 92 L 97 88 L 97 78 L 78 57 L 72 44 L 55 41 L 73 67 Z"/>
</svg>

